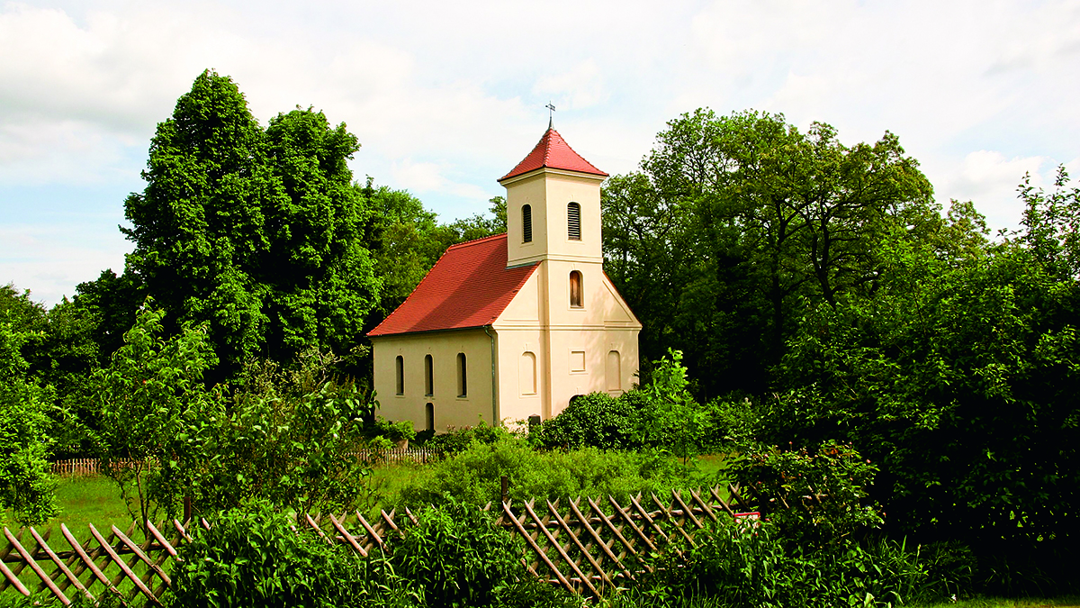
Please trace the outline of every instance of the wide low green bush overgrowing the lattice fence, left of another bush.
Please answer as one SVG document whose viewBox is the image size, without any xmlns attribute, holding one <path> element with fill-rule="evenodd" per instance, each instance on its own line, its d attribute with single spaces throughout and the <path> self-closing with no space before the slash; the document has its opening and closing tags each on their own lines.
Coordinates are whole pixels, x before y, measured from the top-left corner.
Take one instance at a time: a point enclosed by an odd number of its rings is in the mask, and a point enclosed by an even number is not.
<svg viewBox="0 0 1080 608">
<path fill-rule="evenodd" d="M 365 560 L 328 544 L 270 503 L 256 501 L 214 519 L 180 550 L 168 605 L 352 607 L 419 605 L 380 556 Z"/>
</svg>

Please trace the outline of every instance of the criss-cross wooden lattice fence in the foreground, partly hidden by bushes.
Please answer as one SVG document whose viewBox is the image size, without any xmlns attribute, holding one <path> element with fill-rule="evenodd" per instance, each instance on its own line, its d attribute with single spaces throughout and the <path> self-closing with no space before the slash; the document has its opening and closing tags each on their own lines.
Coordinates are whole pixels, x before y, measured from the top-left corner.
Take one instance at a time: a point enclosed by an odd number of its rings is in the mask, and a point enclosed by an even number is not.
<svg viewBox="0 0 1080 608">
<path fill-rule="evenodd" d="M 721 495 L 726 493 L 729 498 Z M 490 510 L 488 504 L 485 510 Z M 755 517 L 738 486 L 706 490 L 673 491 L 670 499 L 656 494 L 631 498 L 619 504 L 578 498 L 561 506 L 558 502 L 535 501 L 515 505 L 501 503 L 498 524 L 510 533 L 525 540 L 522 559 L 528 570 L 567 590 L 597 595 L 600 586 L 613 586 L 616 579 L 638 576 L 637 557 L 662 548 L 673 539 L 693 542 L 693 536 L 706 520 L 719 517 Z M 739 513 L 742 511 L 744 513 Z M 405 518 L 416 523 L 407 508 Z M 401 534 L 395 513 L 381 512 L 368 521 L 359 512 L 353 514 L 298 518 L 298 526 L 311 528 L 328 542 L 349 545 L 366 556 L 375 547 L 383 547 Z M 177 550 L 191 540 L 192 523 L 147 524 L 123 531 L 112 526 L 103 533 L 89 525 L 89 536 L 80 540 L 65 525 L 58 539 L 35 528 L 17 532 L 4 528 L 6 544 L 0 542 L 0 593 L 11 586 L 23 595 L 46 591 L 65 606 L 76 594 L 90 598 L 105 593 L 121 595 L 129 604 L 160 606 L 163 593 L 172 585 L 171 563 Z M 210 528 L 205 519 L 198 526 Z M 136 538 L 141 536 L 141 541 Z M 648 566 L 643 566 L 648 568 Z"/>
</svg>

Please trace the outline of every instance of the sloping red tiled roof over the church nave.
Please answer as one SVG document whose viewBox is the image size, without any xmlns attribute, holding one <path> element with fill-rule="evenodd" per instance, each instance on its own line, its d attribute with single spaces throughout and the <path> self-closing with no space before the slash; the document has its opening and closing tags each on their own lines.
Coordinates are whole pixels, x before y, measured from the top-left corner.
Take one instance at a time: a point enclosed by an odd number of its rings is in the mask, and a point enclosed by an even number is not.
<svg viewBox="0 0 1080 608">
<path fill-rule="evenodd" d="M 507 235 L 451 246 L 413 293 L 367 335 L 491 325 L 537 264 L 507 267 Z"/>
</svg>

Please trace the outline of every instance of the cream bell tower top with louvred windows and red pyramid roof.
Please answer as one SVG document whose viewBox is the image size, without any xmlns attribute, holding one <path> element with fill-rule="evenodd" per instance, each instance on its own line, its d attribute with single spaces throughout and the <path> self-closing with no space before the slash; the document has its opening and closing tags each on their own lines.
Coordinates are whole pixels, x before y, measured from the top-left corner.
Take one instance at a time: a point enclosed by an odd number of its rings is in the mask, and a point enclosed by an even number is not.
<svg viewBox="0 0 1080 608">
<path fill-rule="evenodd" d="M 499 183 L 507 188 L 507 266 L 603 264 L 600 184 L 607 173 L 548 128 Z"/>
</svg>

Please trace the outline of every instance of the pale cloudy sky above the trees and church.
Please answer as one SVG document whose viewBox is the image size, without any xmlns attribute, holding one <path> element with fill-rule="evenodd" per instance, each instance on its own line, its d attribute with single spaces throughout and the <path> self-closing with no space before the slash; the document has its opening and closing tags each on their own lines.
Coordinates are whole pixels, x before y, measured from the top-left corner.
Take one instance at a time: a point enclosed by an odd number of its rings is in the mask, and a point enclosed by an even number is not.
<svg viewBox="0 0 1080 608">
<path fill-rule="evenodd" d="M 0 0 L 0 285 L 53 305 L 132 243 L 124 198 L 150 137 L 204 69 L 264 124 L 297 106 L 345 122 L 355 177 L 443 221 L 555 128 L 634 171 L 699 107 L 900 137 L 936 199 L 1014 228 L 1025 173 L 1080 176 L 1080 0 L 639 2 Z"/>
</svg>

